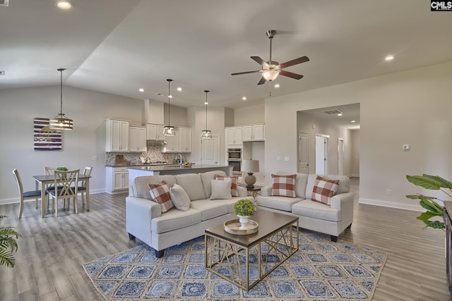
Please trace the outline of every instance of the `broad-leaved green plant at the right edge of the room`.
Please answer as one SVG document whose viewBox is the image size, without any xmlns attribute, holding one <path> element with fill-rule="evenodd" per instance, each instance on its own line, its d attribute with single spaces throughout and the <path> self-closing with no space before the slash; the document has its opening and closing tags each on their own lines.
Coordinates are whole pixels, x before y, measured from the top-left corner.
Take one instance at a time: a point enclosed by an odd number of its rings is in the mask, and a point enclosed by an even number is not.
<svg viewBox="0 0 452 301">
<path fill-rule="evenodd" d="M 441 190 L 448 197 L 452 198 L 452 182 L 441 178 L 440 176 L 430 176 L 427 174 L 423 174 L 422 176 L 407 176 L 407 180 L 416 185 L 429 190 Z M 429 197 L 427 195 L 407 195 L 408 199 L 419 199 L 419 204 L 422 208 L 426 209 L 420 216 L 417 216 L 416 219 L 423 221 L 425 223 L 425 228 L 431 227 L 435 229 L 444 230 L 446 226 L 444 226 L 444 219 L 439 221 L 437 219 L 438 216 L 443 216 L 444 207 L 436 201 L 444 202 L 443 199 L 439 199 L 437 197 Z M 436 219 L 434 219 L 436 218 Z"/>
</svg>

